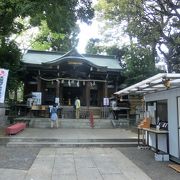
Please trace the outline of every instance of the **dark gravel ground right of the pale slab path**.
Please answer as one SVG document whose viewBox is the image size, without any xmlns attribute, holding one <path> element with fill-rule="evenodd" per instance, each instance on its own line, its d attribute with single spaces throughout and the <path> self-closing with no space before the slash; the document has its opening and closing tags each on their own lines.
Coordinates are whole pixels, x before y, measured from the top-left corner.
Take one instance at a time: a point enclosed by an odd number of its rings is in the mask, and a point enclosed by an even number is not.
<svg viewBox="0 0 180 180">
<path fill-rule="evenodd" d="M 180 173 L 168 167 L 173 162 L 159 162 L 154 160 L 154 152 L 136 147 L 118 148 L 134 164 L 141 168 L 152 180 L 180 180 Z"/>
</svg>

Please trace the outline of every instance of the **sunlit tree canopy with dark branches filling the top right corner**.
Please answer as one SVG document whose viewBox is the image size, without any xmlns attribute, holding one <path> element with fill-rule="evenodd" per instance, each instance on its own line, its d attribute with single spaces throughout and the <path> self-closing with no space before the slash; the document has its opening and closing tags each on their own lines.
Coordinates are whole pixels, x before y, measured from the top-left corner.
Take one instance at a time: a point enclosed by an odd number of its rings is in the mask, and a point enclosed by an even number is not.
<svg viewBox="0 0 180 180">
<path fill-rule="evenodd" d="M 97 9 L 109 25 L 123 24 L 131 42 L 151 47 L 154 61 L 158 49 L 168 71 L 180 72 L 179 0 L 99 0 Z"/>
</svg>

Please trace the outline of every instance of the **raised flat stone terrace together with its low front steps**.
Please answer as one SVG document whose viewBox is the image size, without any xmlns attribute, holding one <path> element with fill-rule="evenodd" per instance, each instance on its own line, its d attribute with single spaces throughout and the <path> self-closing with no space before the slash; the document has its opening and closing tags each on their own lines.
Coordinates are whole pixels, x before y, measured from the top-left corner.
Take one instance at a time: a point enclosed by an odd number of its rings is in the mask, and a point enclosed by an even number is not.
<svg viewBox="0 0 180 180">
<path fill-rule="evenodd" d="M 119 147 L 137 146 L 137 134 L 128 129 L 26 128 L 0 137 L 8 147 Z"/>
</svg>

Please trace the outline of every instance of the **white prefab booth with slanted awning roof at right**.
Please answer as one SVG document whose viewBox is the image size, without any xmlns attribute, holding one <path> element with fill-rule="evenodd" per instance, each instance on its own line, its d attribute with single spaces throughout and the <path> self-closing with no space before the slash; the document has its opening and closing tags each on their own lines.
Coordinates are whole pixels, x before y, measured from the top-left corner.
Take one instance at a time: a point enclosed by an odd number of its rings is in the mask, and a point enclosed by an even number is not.
<svg viewBox="0 0 180 180">
<path fill-rule="evenodd" d="M 171 160 L 180 163 L 180 74 L 157 74 L 140 83 L 115 93 L 118 96 L 143 94 L 146 115 L 151 118 L 151 128 L 146 136 L 148 145 L 158 151 L 168 153 Z M 167 134 L 158 135 L 152 127 L 161 123 L 159 131 Z M 148 139 L 147 139 L 148 138 Z"/>
</svg>

